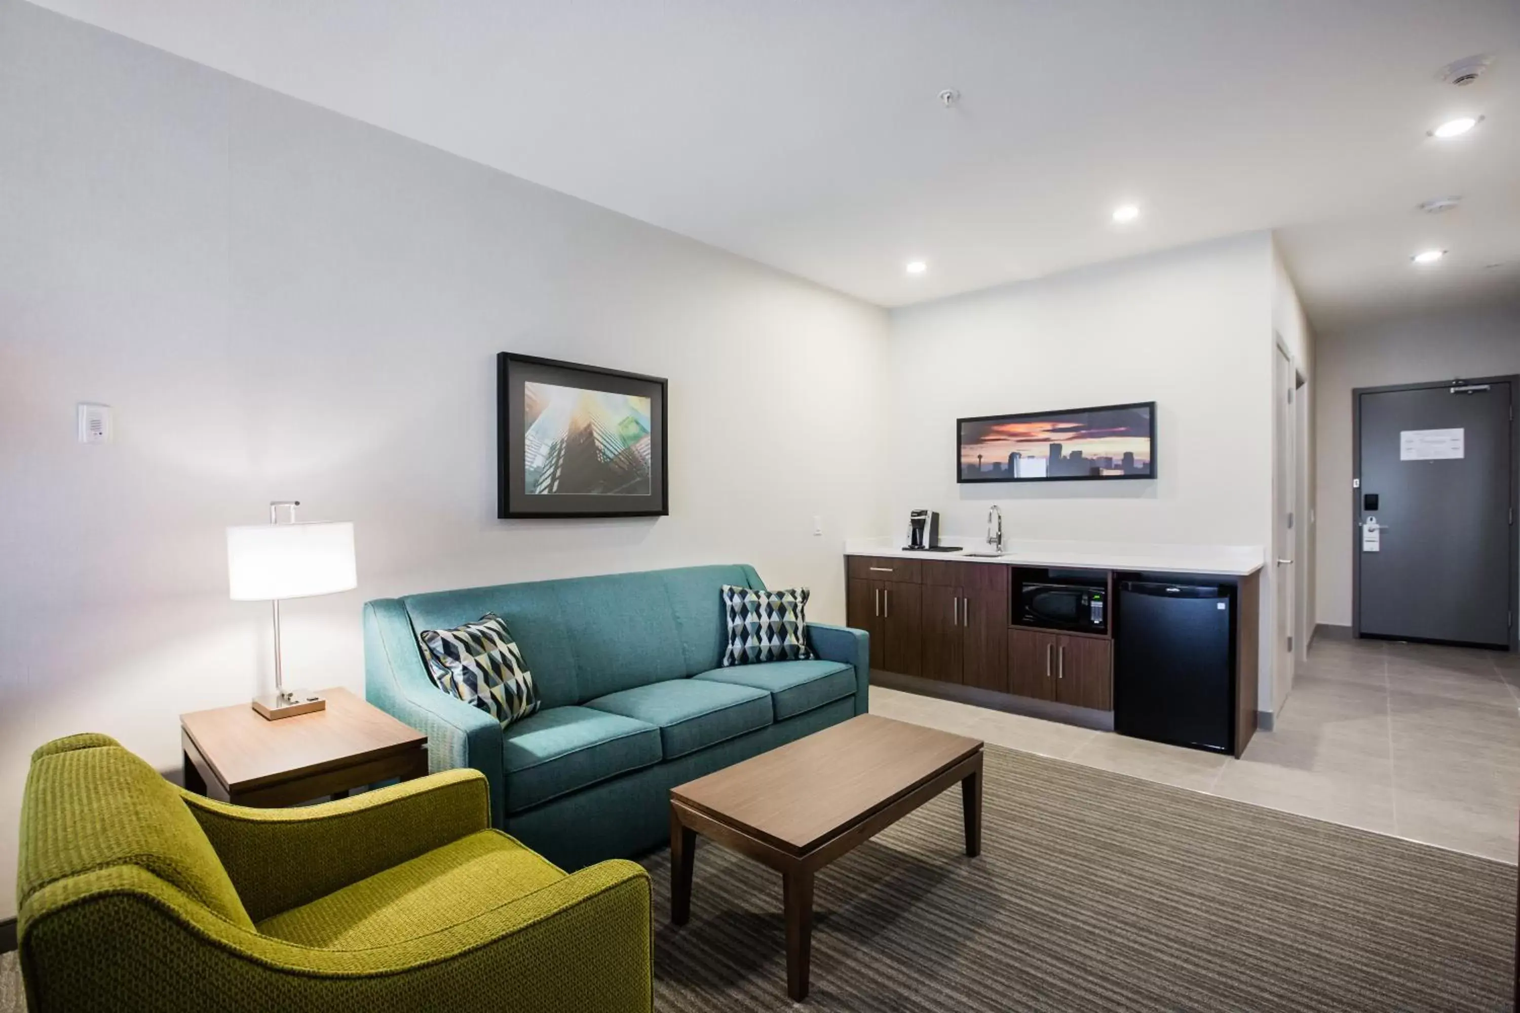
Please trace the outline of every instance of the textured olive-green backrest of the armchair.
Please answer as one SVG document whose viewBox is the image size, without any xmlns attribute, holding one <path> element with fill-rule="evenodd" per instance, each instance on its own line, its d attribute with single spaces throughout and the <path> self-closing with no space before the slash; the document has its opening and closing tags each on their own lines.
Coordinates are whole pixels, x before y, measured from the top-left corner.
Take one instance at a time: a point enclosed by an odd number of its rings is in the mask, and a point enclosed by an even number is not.
<svg viewBox="0 0 1520 1013">
<path fill-rule="evenodd" d="M 179 788 L 105 735 L 71 735 L 32 755 L 20 858 L 21 901 L 58 879 L 131 864 L 254 928 Z"/>
</svg>

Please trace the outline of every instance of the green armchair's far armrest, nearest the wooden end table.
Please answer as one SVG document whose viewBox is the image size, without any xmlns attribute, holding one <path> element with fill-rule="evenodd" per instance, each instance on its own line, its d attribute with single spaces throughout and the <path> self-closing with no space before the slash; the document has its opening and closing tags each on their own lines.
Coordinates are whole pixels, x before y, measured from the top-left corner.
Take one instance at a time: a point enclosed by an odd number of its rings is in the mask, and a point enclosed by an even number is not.
<svg viewBox="0 0 1520 1013">
<path fill-rule="evenodd" d="M 255 922 L 491 826 L 477 770 L 292 809 L 182 797 Z"/>
</svg>

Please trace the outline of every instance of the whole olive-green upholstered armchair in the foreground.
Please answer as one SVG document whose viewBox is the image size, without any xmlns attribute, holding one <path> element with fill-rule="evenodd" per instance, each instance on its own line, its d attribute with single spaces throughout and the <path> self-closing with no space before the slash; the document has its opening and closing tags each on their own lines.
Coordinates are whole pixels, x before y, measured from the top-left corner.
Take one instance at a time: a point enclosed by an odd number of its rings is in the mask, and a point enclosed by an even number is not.
<svg viewBox="0 0 1520 1013">
<path fill-rule="evenodd" d="M 565 875 L 474 770 L 249 809 L 73 735 L 32 755 L 17 893 L 33 1013 L 652 1007 L 648 875 Z"/>
</svg>

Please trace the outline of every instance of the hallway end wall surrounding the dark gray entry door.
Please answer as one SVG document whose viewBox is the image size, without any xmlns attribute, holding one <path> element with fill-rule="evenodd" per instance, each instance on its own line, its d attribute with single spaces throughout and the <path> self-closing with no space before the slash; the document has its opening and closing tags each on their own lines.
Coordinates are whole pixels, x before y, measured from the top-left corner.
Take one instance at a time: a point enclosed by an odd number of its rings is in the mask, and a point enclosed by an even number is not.
<svg viewBox="0 0 1520 1013">
<path fill-rule="evenodd" d="M 1316 620 L 1350 626 L 1351 390 L 1520 374 L 1520 304 L 1398 317 L 1322 334 L 1315 360 L 1319 387 Z"/>
</svg>

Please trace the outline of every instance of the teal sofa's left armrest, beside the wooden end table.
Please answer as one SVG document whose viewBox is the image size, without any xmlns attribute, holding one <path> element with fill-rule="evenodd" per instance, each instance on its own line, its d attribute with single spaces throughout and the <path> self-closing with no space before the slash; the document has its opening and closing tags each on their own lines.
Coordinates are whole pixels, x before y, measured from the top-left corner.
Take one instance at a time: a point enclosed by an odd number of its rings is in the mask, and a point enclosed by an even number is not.
<svg viewBox="0 0 1520 1013">
<path fill-rule="evenodd" d="M 502 724 L 427 677 L 416 630 L 395 598 L 365 604 L 365 699 L 427 735 L 429 770 L 473 767 L 485 775 L 491 819 L 506 820 Z"/>
</svg>

